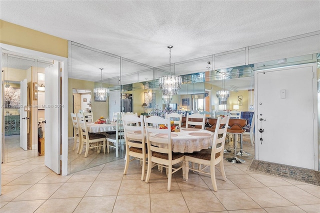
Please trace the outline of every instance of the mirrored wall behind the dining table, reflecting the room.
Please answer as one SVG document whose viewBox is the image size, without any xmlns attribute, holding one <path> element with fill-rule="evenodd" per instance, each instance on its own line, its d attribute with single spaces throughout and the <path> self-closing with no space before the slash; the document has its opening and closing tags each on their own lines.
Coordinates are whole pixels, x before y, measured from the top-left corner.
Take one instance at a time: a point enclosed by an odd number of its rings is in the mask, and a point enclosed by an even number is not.
<svg viewBox="0 0 320 213">
<path fill-rule="evenodd" d="M 171 67 L 169 64 L 152 67 L 74 42 L 70 42 L 69 49 L 68 92 L 73 97 L 69 98 L 69 112 L 90 109 L 93 121 L 100 117 L 111 118 L 113 112 L 118 111 L 159 116 L 172 111 L 184 114 L 213 112 L 221 108 L 216 96 L 216 91 L 221 89 L 230 91 L 222 107 L 224 110 L 232 110 L 234 105 L 238 105 L 241 111 L 254 110 L 252 65 L 214 69 L 213 56 L 209 55 L 175 62 Z M 103 68 L 102 74 L 100 68 Z M 177 95 L 168 97 L 162 95 L 158 78 L 170 73 L 181 75 L 182 85 Z M 95 101 L 93 88 L 101 86 L 109 89 L 108 97 L 106 101 Z M 79 96 L 74 93 L 75 89 L 85 90 L 91 96 L 88 100 L 80 94 L 80 109 L 74 105 L 75 96 Z M 89 107 L 83 104 L 84 100 Z M 73 127 L 70 119 L 68 126 L 68 173 L 124 157 L 125 150 L 120 151 L 117 158 L 112 148 L 110 153 L 105 154 L 92 150 L 84 157 L 84 150 L 81 154 L 76 149 L 72 150 Z"/>
</svg>

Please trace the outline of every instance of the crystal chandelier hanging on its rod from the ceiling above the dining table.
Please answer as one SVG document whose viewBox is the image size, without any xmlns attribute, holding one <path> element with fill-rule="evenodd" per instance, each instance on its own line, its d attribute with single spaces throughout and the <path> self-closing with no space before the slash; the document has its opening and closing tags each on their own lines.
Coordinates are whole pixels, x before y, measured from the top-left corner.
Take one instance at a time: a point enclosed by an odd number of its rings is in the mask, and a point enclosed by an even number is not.
<svg viewBox="0 0 320 213">
<path fill-rule="evenodd" d="M 171 48 L 173 46 L 167 46 L 169 48 L 169 75 L 159 77 L 159 87 L 162 90 L 163 95 L 177 94 L 182 83 L 181 76 L 171 74 Z"/>
</svg>

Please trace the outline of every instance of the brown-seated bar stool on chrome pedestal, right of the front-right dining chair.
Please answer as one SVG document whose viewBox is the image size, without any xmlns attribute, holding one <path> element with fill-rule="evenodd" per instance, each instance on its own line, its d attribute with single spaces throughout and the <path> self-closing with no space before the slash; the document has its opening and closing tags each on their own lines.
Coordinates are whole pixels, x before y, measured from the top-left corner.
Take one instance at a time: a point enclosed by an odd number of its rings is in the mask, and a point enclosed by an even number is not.
<svg viewBox="0 0 320 213">
<path fill-rule="evenodd" d="M 225 160 L 231 162 L 231 163 L 245 163 L 245 160 L 240 159 L 236 156 L 236 141 L 238 138 L 238 135 L 240 135 L 240 139 L 242 139 L 242 133 L 245 132 L 245 129 L 243 127 L 246 125 L 245 119 L 230 119 L 229 120 L 229 126 L 230 128 L 227 129 L 228 133 L 232 133 L 233 135 L 233 150 L 234 150 L 234 156 L 225 158 Z"/>
</svg>

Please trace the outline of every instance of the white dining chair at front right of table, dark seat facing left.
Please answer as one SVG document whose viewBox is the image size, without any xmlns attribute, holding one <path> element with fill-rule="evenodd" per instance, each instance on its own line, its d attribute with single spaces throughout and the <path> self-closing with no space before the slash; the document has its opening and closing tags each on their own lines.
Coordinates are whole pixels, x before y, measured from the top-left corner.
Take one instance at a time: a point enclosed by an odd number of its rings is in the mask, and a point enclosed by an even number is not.
<svg viewBox="0 0 320 213">
<path fill-rule="evenodd" d="M 185 153 L 185 180 L 188 180 L 189 170 L 197 171 L 200 173 L 209 174 L 211 176 L 211 182 L 213 190 L 217 191 L 217 185 L 215 180 L 215 165 L 220 163 L 220 171 L 222 178 L 226 181 L 223 165 L 223 150 L 226 130 L 229 123 L 229 116 L 223 118 L 218 117 L 216 120 L 215 130 L 213 134 L 212 148 L 202 149 L 200 151 Z M 197 168 L 189 167 L 189 162 L 198 164 Z M 203 167 L 200 165 L 204 165 Z M 210 172 L 205 169 L 210 166 Z"/>
</svg>

